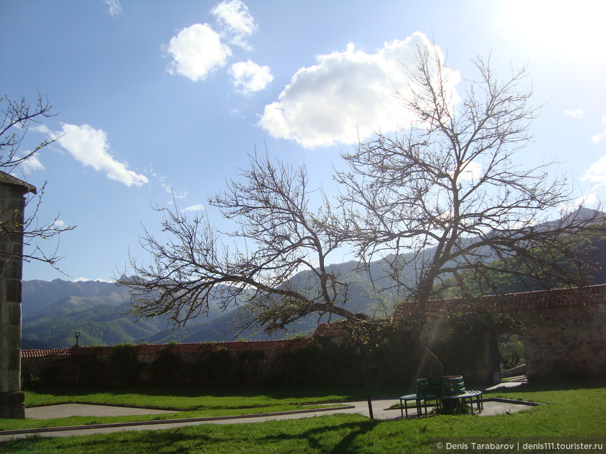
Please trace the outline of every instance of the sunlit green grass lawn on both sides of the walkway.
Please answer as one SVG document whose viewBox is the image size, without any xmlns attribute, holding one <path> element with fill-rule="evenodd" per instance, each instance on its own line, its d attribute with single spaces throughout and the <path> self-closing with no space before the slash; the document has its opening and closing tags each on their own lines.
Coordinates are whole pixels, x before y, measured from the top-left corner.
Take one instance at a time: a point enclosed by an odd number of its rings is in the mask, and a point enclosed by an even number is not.
<svg viewBox="0 0 606 454">
<path fill-rule="evenodd" d="M 147 405 L 180 402 L 188 412 L 222 412 L 297 406 L 302 402 L 349 397 L 345 394 L 310 391 L 233 396 L 230 394 L 199 396 L 176 394 L 87 394 L 74 400 L 106 401 Z M 538 390 L 528 386 L 499 391 L 491 396 L 532 400 L 545 405 L 511 415 L 500 416 L 434 416 L 428 419 L 370 421 L 364 416 L 318 416 L 291 421 L 205 424 L 172 430 L 119 432 L 88 437 L 33 438 L 0 443 L 1 453 L 430 453 L 432 437 L 525 437 L 525 436 L 605 436 L 606 388 L 568 388 Z M 67 396 L 63 396 L 65 398 Z M 57 394 L 28 395 L 28 401 L 42 402 Z M 206 403 L 208 400 L 208 404 Z M 63 400 L 64 401 L 64 400 Z M 547 404 L 550 402 L 550 404 Z M 167 406 L 167 405 L 162 405 Z M 212 407 L 212 410 L 209 410 Z M 265 411 L 264 410 L 264 411 Z M 240 411 L 242 413 L 244 411 Z M 5 425 L 0 420 L 0 425 Z"/>
</svg>

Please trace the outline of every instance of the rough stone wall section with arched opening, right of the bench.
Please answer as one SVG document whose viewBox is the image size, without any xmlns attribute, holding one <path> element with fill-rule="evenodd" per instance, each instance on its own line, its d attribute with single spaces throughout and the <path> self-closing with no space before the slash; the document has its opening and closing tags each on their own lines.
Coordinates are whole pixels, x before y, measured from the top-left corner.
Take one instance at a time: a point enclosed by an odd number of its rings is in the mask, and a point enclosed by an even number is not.
<svg viewBox="0 0 606 454">
<path fill-rule="evenodd" d="M 530 382 L 606 379 L 606 285 L 482 297 L 466 302 L 463 313 L 479 321 L 453 337 L 451 314 L 460 301 L 435 302 L 438 321 L 446 320 L 445 336 L 436 345 L 446 373 L 459 364 L 460 375 L 495 384 L 499 375 L 497 339 L 520 334 Z M 463 316 L 465 317 L 465 316 Z M 460 322 L 460 321 L 459 321 Z M 436 323 L 436 321 L 433 321 Z M 460 323 L 459 323 L 460 324 Z M 497 373 L 497 374 L 495 374 Z M 498 381 L 496 381 L 498 382 Z"/>
</svg>

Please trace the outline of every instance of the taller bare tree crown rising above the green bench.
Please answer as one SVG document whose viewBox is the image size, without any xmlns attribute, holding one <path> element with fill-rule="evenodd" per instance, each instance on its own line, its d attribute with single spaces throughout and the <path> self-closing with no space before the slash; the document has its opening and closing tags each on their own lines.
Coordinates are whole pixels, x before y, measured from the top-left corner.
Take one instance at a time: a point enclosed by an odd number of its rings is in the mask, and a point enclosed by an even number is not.
<svg viewBox="0 0 606 454">
<path fill-rule="evenodd" d="M 515 163 L 538 113 L 525 68 L 500 81 L 490 60 L 474 65 L 479 78 L 457 102 L 442 57 L 418 50 L 398 93 L 417 122 L 343 153 L 350 170 L 337 179 L 352 242 L 375 282 L 403 301 L 423 304 L 450 287 L 467 298 L 499 293 L 504 278 L 582 285 L 583 258 L 566 238 L 603 231 L 603 213 L 575 207 L 553 163 Z M 564 206 L 573 209 L 548 222 Z M 384 266 L 368 267 L 378 259 Z"/>
</svg>

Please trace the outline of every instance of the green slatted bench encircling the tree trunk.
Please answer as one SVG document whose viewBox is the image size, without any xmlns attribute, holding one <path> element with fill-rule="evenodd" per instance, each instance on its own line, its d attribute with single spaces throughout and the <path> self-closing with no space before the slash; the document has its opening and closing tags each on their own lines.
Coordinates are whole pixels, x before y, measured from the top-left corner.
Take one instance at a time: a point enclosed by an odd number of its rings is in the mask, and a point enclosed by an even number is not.
<svg viewBox="0 0 606 454">
<path fill-rule="evenodd" d="M 419 378 L 416 393 L 400 397 L 400 411 L 402 416 L 406 413 L 406 418 L 408 418 L 408 402 L 412 400 L 414 400 L 417 416 L 419 417 L 423 409 L 425 416 L 427 416 L 427 407 L 433 401 L 435 401 L 435 407 L 438 410 L 446 405 L 456 405 L 463 409 L 467 403 L 469 403 L 472 414 L 474 405 L 478 412 L 483 410 L 482 391 L 465 389 L 465 381 L 460 375 L 446 375 L 441 380 Z"/>
</svg>

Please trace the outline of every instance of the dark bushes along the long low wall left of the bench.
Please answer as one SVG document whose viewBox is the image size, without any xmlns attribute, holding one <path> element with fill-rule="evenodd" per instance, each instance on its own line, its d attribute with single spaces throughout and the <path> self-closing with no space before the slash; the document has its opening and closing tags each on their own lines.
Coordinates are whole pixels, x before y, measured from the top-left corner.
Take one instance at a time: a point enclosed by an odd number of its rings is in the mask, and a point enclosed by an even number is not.
<svg viewBox="0 0 606 454">
<path fill-rule="evenodd" d="M 174 346 L 79 348 L 72 355 L 24 358 L 24 382 L 48 387 L 326 387 L 362 385 L 362 359 L 357 346 L 331 339 L 305 339 L 292 350 L 212 351 L 179 353 Z M 152 346 L 147 346 L 152 347 Z M 406 352 L 394 346 L 368 353 L 375 384 L 410 382 Z"/>
</svg>

